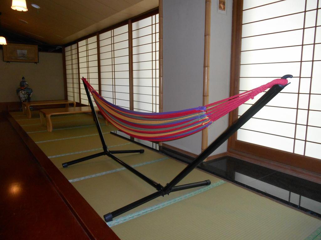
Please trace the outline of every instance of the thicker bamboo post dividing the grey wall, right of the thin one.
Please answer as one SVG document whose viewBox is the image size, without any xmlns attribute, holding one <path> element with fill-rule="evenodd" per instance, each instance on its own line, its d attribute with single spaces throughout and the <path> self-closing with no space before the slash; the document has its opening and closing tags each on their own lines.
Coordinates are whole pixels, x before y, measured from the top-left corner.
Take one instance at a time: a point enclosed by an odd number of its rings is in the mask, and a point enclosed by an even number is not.
<svg viewBox="0 0 321 240">
<path fill-rule="evenodd" d="M 203 106 L 209 103 L 210 43 L 211 43 L 211 0 L 205 0 Z M 202 130 L 202 152 L 207 148 L 207 146 L 208 146 L 208 128 L 205 128 L 204 130 Z"/>
</svg>

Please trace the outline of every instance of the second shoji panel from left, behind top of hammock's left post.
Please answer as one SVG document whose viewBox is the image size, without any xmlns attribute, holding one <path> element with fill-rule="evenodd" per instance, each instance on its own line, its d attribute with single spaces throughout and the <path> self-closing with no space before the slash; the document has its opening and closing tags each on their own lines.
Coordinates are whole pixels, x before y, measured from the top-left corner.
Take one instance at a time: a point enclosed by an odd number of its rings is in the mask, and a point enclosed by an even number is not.
<svg viewBox="0 0 321 240">
<path fill-rule="evenodd" d="M 80 96 L 81 103 L 89 105 L 82 77 L 98 91 L 98 59 L 97 59 L 97 36 L 93 36 L 78 42 Z M 94 103 L 95 105 L 95 103 Z"/>
</svg>

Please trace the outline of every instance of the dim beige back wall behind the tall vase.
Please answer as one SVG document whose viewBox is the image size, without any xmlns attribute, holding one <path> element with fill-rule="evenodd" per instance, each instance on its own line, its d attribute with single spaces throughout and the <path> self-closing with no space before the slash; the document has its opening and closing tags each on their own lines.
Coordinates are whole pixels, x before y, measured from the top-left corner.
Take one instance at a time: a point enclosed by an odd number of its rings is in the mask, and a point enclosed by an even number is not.
<svg viewBox="0 0 321 240">
<path fill-rule="evenodd" d="M 39 63 L 4 62 L 0 49 L 0 102 L 19 102 L 16 89 L 22 76 L 33 90 L 31 100 L 65 98 L 62 53 L 39 52 Z"/>
</svg>

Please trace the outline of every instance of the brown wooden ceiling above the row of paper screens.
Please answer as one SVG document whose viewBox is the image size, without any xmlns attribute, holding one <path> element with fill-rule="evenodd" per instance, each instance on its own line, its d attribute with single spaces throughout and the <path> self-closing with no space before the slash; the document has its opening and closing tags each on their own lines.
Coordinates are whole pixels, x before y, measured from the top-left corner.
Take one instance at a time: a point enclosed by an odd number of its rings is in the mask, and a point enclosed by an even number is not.
<svg viewBox="0 0 321 240">
<path fill-rule="evenodd" d="M 39 42 L 63 45 L 137 16 L 158 0 L 26 0 L 27 12 L 1 0 L 1 27 Z M 31 4 L 39 5 L 40 9 Z M 27 22 L 27 23 L 26 23 Z"/>
</svg>

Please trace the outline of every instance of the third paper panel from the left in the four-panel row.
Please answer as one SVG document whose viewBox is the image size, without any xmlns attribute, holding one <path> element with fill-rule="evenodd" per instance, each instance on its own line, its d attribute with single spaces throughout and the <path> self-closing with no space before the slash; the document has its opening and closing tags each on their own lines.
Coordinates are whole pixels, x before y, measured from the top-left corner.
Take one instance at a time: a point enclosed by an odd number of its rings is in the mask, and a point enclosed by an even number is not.
<svg viewBox="0 0 321 240">
<path fill-rule="evenodd" d="M 128 25 L 102 33 L 99 38 L 101 95 L 129 109 Z"/>
</svg>

